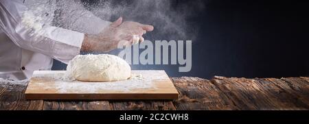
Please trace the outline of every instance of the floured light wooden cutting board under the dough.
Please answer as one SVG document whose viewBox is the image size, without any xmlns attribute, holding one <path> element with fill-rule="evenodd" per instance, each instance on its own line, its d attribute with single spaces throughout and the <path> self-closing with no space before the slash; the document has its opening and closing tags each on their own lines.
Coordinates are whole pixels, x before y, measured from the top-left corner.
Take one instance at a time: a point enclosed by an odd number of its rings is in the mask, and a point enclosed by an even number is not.
<svg viewBox="0 0 309 124">
<path fill-rule="evenodd" d="M 65 71 L 34 71 L 25 99 L 177 99 L 178 91 L 165 71 L 132 71 L 118 82 L 60 79 Z"/>
</svg>

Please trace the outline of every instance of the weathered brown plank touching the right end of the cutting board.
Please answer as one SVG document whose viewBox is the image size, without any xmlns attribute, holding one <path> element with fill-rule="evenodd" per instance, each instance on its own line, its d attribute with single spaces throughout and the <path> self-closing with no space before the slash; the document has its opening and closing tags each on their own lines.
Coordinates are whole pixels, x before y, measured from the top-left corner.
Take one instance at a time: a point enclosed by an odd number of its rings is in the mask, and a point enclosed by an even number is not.
<svg viewBox="0 0 309 124">
<path fill-rule="evenodd" d="M 175 100 L 176 110 L 238 110 L 233 102 L 207 79 L 196 77 L 174 77 L 179 91 Z"/>
</svg>

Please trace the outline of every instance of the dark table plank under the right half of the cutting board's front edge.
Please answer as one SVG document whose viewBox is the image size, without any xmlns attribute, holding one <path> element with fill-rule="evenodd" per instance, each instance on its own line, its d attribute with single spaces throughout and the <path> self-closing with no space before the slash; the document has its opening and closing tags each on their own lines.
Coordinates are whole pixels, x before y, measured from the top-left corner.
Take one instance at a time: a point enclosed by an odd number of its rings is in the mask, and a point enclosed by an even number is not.
<svg viewBox="0 0 309 124">
<path fill-rule="evenodd" d="M 172 101 L 110 101 L 113 110 L 176 110 Z"/>
</svg>

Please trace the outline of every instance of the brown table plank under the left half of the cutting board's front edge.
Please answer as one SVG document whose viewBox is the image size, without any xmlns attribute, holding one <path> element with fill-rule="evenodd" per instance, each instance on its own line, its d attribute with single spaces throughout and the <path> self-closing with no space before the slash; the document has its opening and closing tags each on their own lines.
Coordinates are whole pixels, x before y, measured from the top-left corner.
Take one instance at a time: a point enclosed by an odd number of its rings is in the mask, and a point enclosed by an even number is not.
<svg viewBox="0 0 309 124">
<path fill-rule="evenodd" d="M 43 110 L 111 110 L 108 101 L 44 101 Z"/>
</svg>

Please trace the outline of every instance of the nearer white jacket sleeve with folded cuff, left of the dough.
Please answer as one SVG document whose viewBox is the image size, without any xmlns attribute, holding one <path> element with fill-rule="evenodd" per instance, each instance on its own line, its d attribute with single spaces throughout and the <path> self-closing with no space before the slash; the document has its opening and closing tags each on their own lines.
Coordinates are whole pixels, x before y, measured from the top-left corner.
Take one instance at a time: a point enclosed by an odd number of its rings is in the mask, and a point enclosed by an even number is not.
<svg viewBox="0 0 309 124">
<path fill-rule="evenodd" d="M 30 21 L 25 21 L 25 18 Z M 40 22 L 33 23 L 33 18 L 36 17 L 31 10 L 20 1 L 0 1 L 0 28 L 17 46 L 49 55 L 64 63 L 80 54 L 84 34 Z"/>
</svg>

